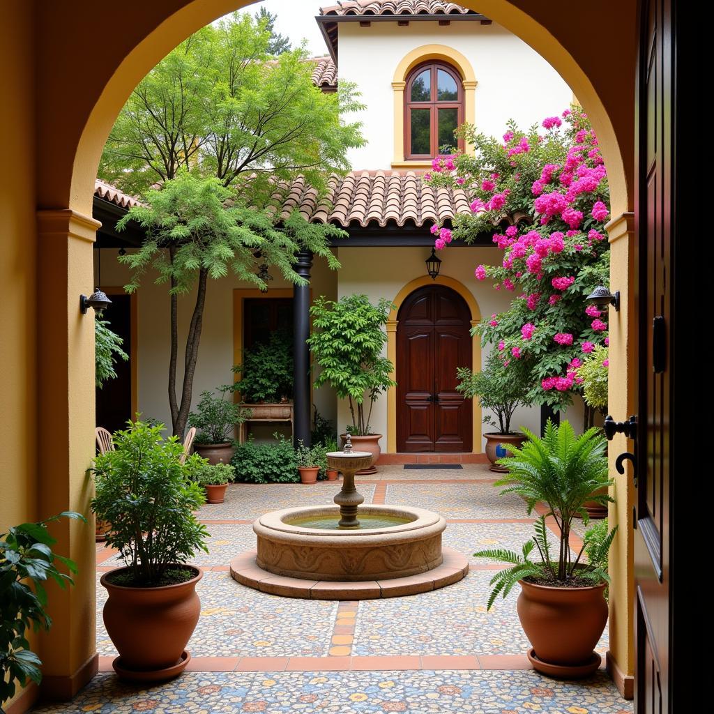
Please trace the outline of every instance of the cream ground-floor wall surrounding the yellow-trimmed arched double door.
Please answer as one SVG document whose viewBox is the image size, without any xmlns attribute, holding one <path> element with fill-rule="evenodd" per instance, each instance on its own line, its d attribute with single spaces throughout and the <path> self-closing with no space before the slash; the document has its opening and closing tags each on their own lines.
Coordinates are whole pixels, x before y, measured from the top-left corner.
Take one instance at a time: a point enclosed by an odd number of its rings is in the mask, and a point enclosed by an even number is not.
<svg viewBox="0 0 714 714">
<path fill-rule="evenodd" d="M 394 300 L 397 293 L 406 283 L 411 282 L 426 273 L 424 261 L 428 257 L 428 248 L 340 248 L 338 256 L 342 269 L 338 275 L 338 296 L 344 297 L 353 293 L 363 293 L 376 302 L 379 298 Z M 454 278 L 471 291 L 483 318 L 508 309 L 513 293 L 496 291 L 491 281 L 477 281 L 473 269 L 479 263 L 492 263 L 501 256 L 500 251 L 493 248 L 447 248 L 441 251 L 441 275 Z M 478 338 L 476 338 L 478 339 Z M 482 351 L 482 360 L 488 355 L 488 347 Z M 386 348 L 385 348 L 386 356 Z M 476 366 L 474 366 L 476 368 Z M 570 420 L 577 431 L 583 423 L 583 406 L 580 398 L 564 415 Z M 348 404 L 338 405 L 338 429 L 340 432 L 351 423 Z M 383 395 L 372 411 L 372 431 L 381 433 L 383 451 L 396 451 L 396 445 L 386 443 L 387 434 L 387 398 Z M 513 415 L 512 427 L 526 426 L 538 433 L 540 429 L 540 407 L 519 408 Z M 491 431 L 484 426 L 483 431 Z M 474 445 L 474 451 L 483 451 Z"/>
</svg>

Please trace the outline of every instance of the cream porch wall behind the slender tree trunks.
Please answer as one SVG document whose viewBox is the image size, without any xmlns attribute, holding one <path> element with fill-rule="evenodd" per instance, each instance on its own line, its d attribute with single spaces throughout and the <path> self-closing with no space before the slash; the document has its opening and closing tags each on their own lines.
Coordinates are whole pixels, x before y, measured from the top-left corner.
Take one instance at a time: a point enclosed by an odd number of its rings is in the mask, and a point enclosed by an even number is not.
<svg viewBox="0 0 714 714">
<path fill-rule="evenodd" d="M 98 252 L 98 251 L 96 251 Z M 129 282 L 129 271 L 116 260 L 116 250 L 105 248 L 101 251 L 101 284 L 103 286 L 123 286 Z M 95 258 L 95 282 L 98 280 L 97 261 Z M 274 280 L 270 288 L 289 288 L 290 284 L 281 278 L 278 271 L 272 271 Z M 169 291 L 166 285 L 156 285 L 155 275 L 147 273 L 141 281 L 137 293 L 138 311 L 138 353 L 139 353 L 139 411 L 144 418 L 154 417 L 171 425 L 168 396 L 169 376 Z M 206 308 L 203 313 L 201 343 L 198 348 L 198 364 L 193 379 L 193 406 L 203 390 L 213 390 L 221 384 L 233 381 L 233 288 L 255 288 L 228 276 L 217 281 L 208 281 Z M 327 263 L 315 258 L 312 270 L 313 296 L 327 295 L 335 298 L 337 294 L 337 273 L 329 270 Z M 191 322 L 191 313 L 196 301 L 195 292 L 178 299 L 178 368 L 176 381 L 178 396 L 181 396 L 183 380 L 183 356 L 186 335 Z M 337 405 L 334 393 L 324 388 L 316 391 L 314 403 L 318 411 L 330 419 L 336 420 Z M 283 431 L 280 426 L 258 426 L 256 431 L 265 435 L 272 431 Z"/>
</svg>

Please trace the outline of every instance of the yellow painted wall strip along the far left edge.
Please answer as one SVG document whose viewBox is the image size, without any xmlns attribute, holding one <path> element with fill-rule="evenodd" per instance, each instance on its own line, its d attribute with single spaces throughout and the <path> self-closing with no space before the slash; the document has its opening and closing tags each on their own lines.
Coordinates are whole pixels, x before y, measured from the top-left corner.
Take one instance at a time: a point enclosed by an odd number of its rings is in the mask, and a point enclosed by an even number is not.
<svg viewBox="0 0 714 714">
<path fill-rule="evenodd" d="M 37 516 L 34 11 L 0 21 L 0 533 Z"/>
</svg>

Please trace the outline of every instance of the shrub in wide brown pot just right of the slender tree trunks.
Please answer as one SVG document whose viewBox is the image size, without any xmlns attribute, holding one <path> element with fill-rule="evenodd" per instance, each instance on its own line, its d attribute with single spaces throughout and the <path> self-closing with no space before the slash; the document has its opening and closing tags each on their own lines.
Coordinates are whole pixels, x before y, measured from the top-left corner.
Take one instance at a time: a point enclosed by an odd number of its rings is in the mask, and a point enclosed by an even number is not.
<svg viewBox="0 0 714 714">
<path fill-rule="evenodd" d="M 188 415 L 188 426 L 196 427 L 193 451 L 208 463 L 229 463 L 233 457 L 233 430 L 251 416 L 250 411 L 226 398 L 231 387 L 216 388 L 218 395 L 201 392 L 196 411 Z"/>
</svg>

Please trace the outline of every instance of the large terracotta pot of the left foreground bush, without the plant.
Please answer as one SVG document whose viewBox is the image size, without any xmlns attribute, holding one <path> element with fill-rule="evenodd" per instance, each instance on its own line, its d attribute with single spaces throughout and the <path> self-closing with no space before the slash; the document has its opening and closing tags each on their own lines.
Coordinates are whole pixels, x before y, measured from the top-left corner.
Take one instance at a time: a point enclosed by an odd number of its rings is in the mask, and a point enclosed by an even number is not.
<svg viewBox="0 0 714 714">
<path fill-rule="evenodd" d="M 119 651 L 114 669 L 121 676 L 132 678 L 131 673 L 136 671 L 139 680 L 152 678 L 152 673 L 161 679 L 161 670 L 169 670 L 168 677 L 176 676 L 188 663 L 184 650 L 201 613 L 196 583 L 203 578 L 203 570 L 194 565 L 181 568 L 193 570 L 196 576 L 186 583 L 160 588 L 127 588 L 109 582 L 109 575 L 129 568 L 102 575 L 101 584 L 109 593 L 104 625 Z"/>
</svg>

